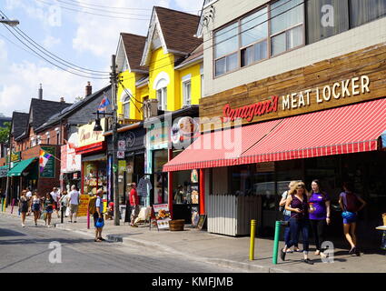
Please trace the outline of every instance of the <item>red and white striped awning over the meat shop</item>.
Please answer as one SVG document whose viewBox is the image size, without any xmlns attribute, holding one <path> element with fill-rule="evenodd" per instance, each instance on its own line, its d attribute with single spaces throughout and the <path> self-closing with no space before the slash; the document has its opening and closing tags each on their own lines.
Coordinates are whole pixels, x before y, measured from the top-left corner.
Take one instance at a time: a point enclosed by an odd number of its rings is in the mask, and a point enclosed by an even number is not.
<svg viewBox="0 0 386 291">
<path fill-rule="evenodd" d="M 381 98 L 243 126 L 241 135 L 230 133 L 237 129 L 201 135 L 193 145 L 163 166 L 163 171 L 375 151 L 378 149 L 378 138 L 385 129 L 386 98 Z M 218 149 L 213 144 L 203 143 L 205 137 L 211 135 L 220 138 L 220 135 L 224 135 L 221 133 L 232 136 L 232 143 L 223 142 L 223 147 L 217 143 Z M 233 139 L 233 136 L 236 138 Z M 207 149 L 201 149 L 200 145 L 203 144 Z"/>
</svg>

